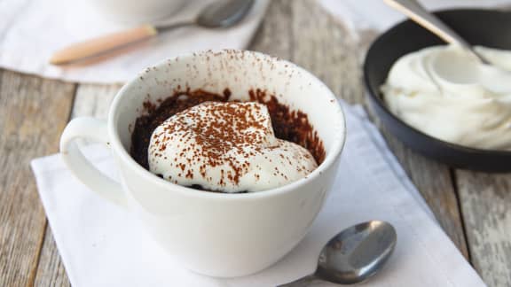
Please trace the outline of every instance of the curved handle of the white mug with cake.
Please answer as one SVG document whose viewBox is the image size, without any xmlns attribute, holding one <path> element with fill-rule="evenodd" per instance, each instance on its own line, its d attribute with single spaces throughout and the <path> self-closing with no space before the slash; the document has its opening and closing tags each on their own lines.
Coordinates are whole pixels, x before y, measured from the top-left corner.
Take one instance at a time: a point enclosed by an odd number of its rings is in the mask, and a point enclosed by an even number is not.
<svg viewBox="0 0 511 287">
<path fill-rule="evenodd" d="M 106 120 L 82 117 L 71 120 L 60 136 L 60 154 L 73 174 L 90 190 L 117 206 L 127 206 L 126 197 L 119 182 L 103 175 L 85 159 L 75 139 L 84 138 L 98 143 L 108 143 Z"/>
</svg>

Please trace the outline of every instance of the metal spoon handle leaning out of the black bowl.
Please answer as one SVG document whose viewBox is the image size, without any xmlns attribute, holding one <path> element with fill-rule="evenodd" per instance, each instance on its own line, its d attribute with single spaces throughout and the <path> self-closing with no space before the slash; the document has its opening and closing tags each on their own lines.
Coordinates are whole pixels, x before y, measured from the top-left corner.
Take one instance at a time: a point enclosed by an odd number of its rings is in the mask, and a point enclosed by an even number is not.
<svg viewBox="0 0 511 287">
<path fill-rule="evenodd" d="M 402 12 L 408 18 L 412 19 L 417 24 L 428 29 L 431 33 L 437 35 L 447 43 L 452 43 L 460 46 L 464 50 L 467 50 L 470 54 L 478 58 L 483 64 L 489 64 L 486 59 L 472 48 L 465 39 L 461 38 L 456 32 L 450 27 L 446 26 L 442 20 L 438 19 L 434 14 L 428 12 L 419 2 L 416 0 L 383 0 L 385 4 L 396 9 L 398 12 Z"/>
</svg>

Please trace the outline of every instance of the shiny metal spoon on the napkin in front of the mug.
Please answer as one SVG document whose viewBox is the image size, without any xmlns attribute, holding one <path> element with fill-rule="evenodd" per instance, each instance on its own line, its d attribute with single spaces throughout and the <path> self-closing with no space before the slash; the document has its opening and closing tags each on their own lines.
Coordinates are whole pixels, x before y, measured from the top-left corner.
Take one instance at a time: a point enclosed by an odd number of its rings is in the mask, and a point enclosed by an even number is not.
<svg viewBox="0 0 511 287">
<path fill-rule="evenodd" d="M 354 284 L 375 275 L 396 246 L 396 230 L 385 221 L 367 221 L 342 230 L 319 253 L 312 275 L 280 285 L 308 286 L 318 280 Z"/>
</svg>

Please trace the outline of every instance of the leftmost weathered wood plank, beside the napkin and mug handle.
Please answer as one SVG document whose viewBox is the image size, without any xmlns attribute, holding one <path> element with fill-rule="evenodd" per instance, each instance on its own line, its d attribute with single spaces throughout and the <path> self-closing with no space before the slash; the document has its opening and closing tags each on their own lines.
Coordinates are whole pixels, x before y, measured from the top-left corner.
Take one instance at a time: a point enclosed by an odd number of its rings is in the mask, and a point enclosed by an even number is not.
<svg viewBox="0 0 511 287">
<path fill-rule="evenodd" d="M 58 150 L 75 85 L 0 71 L 0 286 L 31 285 L 46 219 L 30 159 Z"/>
</svg>

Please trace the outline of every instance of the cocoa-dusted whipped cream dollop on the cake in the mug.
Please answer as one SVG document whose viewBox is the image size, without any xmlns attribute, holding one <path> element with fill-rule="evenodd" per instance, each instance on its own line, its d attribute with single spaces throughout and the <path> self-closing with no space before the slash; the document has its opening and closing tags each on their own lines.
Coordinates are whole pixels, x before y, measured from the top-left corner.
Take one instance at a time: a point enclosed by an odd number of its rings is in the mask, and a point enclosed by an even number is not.
<svg viewBox="0 0 511 287">
<path fill-rule="evenodd" d="M 149 169 L 169 182 L 223 192 L 294 182 L 318 165 L 302 146 L 275 137 L 266 105 L 206 102 L 153 131 Z"/>
</svg>

